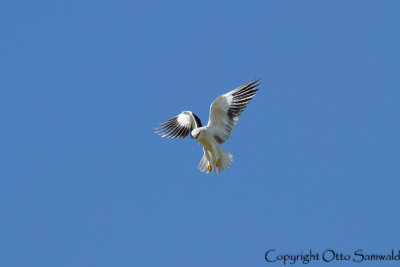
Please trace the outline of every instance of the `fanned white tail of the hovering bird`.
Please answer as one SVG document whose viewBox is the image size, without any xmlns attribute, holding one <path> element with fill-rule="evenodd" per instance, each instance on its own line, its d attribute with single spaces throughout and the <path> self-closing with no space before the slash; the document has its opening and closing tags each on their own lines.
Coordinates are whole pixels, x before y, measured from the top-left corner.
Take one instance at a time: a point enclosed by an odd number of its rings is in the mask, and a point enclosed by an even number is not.
<svg viewBox="0 0 400 267">
<path fill-rule="evenodd" d="M 208 159 L 205 154 L 207 152 L 204 151 L 203 157 L 201 158 L 199 166 L 198 166 L 201 172 L 218 173 L 218 172 L 222 172 L 223 170 L 226 170 L 227 168 L 229 168 L 229 166 L 231 165 L 231 163 L 233 161 L 232 154 L 230 154 L 229 152 L 226 152 L 221 147 L 218 147 L 217 149 L 218 149 L 218 154 L 220 155 L 220 158 L 218 158 L 218 166 L 217 166 L 216 155 L 210 151 L 208 152 L 210 154 L 210 167 L 208 166 L 209 162 L 208 162 Z"/>
</svg>

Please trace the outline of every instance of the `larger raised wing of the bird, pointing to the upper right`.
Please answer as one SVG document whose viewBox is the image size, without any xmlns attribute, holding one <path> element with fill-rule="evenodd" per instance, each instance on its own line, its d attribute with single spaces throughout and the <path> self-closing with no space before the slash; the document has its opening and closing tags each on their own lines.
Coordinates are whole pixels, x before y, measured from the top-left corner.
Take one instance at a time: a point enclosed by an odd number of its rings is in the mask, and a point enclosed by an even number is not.
<svg viewBox="0 0 400 267">
<path fill-rule="evenodd" d="M 255 95 L 260 85 L 259 80 L 243 84 L 236 89 L 219 96 L 210 106 L 207 127 L 218 143 L 223 143 L 231 136 L 240 114 Z"/>
</svg>

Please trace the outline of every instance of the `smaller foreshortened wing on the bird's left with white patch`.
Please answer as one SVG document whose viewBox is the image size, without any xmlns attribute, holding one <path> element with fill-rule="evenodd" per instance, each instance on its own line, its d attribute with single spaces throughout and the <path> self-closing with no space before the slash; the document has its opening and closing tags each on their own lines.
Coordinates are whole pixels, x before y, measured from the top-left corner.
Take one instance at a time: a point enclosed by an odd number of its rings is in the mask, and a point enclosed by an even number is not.
<svg viewBox="0 0 400 267">
<path fill-rule="evenodd" d="M 201 127 L 201 121 L 191 111 L 182 111 L 157 127 L 156 133 L 161 137 L 185 138 L 194 128 Z"/>
</svg>

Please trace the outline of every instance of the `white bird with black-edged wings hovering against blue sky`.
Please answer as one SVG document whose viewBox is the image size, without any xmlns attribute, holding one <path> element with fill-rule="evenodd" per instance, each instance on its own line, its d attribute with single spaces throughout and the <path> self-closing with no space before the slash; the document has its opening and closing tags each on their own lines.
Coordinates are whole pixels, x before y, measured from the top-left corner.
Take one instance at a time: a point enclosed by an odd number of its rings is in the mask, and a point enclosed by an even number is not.
<svg viewBox="0 0 400 267">
<path fill-rule="evenodd" d="M 220 144 L 230 138 L 239 116 L 258 91 L 259 81 L 252 80 L 217 97 L 210 105 L 206 126 L 202 126 L 201 120 L 192 111 L 182 111 L 156 127 L 155 133 L 161 137 L 180 139 L 190 134 L 203 147 L 199 170 L 206 174 L 222 172 L 231 165 L 233 156 Z"/>
</svg>

